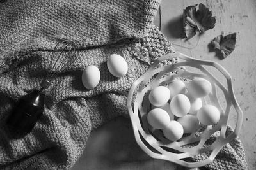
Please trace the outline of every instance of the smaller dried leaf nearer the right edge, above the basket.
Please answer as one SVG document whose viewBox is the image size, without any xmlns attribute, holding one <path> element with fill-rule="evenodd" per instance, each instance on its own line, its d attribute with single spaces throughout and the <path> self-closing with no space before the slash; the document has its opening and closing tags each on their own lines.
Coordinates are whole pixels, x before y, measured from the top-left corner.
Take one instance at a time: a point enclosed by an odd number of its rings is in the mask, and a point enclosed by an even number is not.
<svg viewBox="0 0 256 170">
<path fill-rule="evenodd" d="M 220 50 L 223 55 L 223 59 L 225 59 L 235 49 L 236 33 L 228 34 L 227 36 L 223 36 L 223 34 L 224 32 L 222 31 L 220 36 L 216 36 L 216 38 L 212 39 L 211 45 Z"/>
</svg>

